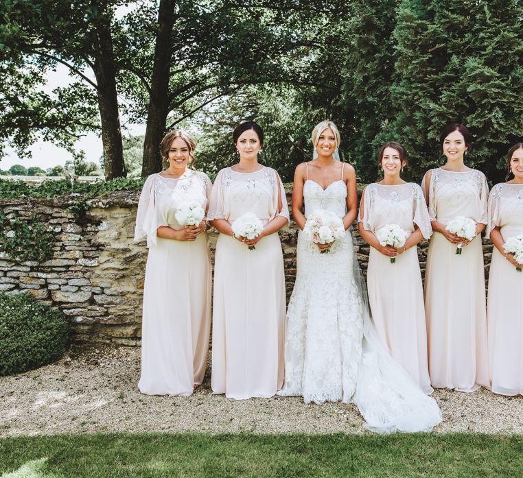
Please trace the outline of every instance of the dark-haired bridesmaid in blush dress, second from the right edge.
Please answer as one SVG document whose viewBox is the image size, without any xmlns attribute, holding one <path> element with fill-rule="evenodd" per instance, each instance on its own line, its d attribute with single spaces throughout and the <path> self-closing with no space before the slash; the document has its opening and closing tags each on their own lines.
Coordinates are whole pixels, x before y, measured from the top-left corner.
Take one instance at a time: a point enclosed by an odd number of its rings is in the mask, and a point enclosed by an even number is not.
<svg viewBox="0 0 523 478">
<path fill-rule="evenodd" d="M 434 230 L 425 283 L 428 368 L 433 387 L 474 392 L 489 385 L 480 234 L 487 224 L 489 189 L 485 175 L 463 162 L 472 148 L 472 134 L 465 126 L 446 126 L 440 141 L 447 162 L 428 171 L 421 183 Z M 476 222 L 472 241 L 445 229 L 460 215 Z M 456 254 L 460 243 L 463 252 Z"/>
</svg>

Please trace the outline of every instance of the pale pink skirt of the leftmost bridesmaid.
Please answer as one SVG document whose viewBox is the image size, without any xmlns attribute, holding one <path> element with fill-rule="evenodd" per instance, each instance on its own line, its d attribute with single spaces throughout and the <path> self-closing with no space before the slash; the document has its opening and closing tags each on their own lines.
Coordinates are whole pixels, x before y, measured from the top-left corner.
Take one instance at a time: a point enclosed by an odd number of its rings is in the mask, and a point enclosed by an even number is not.
<svg viewBox="0 0 523 478">
<path fill-rule="evenodd" d="M 196 241 L 156 239 L 143 288 L 140 392 L 189 396 L 205 375 L 211 328 L 211 256 Z"/>
</svg>

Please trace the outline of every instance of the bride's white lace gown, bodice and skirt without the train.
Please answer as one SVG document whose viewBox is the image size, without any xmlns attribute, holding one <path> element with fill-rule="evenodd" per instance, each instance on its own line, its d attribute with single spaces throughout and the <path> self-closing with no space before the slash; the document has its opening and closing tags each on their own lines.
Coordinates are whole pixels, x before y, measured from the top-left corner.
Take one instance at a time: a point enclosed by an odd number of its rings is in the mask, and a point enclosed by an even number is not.
<svg viewBox="0 0 523 478">
<path fill-rule="evenodd" d="M 307 180 L 305 215 L 324 209 L 345 215 L 345 182 L 323 190 Z M 340 206 L 341 204 L 341 206 Z M 320 254 L 301 231 L 298 272 L 287 312 L 286 383 L 281 395 L 302 395 L 305 403 L 344 401 L 356 390 L 362 350 L 362 304 L 352 276 L 349 232 Z"/>
</svg>

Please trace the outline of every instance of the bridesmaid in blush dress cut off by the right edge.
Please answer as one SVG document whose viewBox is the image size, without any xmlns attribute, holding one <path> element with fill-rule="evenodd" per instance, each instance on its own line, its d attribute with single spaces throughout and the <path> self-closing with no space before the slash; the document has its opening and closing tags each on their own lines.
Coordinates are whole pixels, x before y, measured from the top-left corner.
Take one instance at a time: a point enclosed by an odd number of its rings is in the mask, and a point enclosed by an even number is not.
<svg viewBox="0 0 523 478">
<path fill-rule="evenodd" d="M 523 235 L 523 143 L 509 151 L 509 175 L 489 198 L 490 240 L 494 244 L 489 273 L 487 318 L 492 392 L 523 395 L 523 272 L 503 244 Z"/>
</svg>

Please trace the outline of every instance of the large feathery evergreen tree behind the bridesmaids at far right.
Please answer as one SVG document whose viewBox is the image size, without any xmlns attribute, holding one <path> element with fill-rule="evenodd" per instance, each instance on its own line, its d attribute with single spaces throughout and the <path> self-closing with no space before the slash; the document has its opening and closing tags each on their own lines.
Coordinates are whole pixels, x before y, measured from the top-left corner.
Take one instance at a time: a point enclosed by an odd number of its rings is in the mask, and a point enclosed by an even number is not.
<svg viewBox="0 0 523 478">
<path fill-rule="evenodd" d="M 402 1 L 395 121 L 382 134 L 404 142 L 413 178 L 441 164 L 439 133 L 458 121 L 476 139 L 467 165 L 502 180 L 503 156 L 523 132 L 522 16 L 521 0 Z"/>
</svg>

